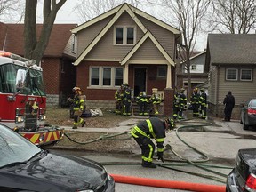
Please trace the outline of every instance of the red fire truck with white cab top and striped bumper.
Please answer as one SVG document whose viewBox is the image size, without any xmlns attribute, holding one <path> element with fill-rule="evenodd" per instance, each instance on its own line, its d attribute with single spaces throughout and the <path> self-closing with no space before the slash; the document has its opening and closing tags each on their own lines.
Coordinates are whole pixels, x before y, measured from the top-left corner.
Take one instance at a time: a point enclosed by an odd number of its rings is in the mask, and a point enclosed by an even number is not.
<svg viewBox="0 0 256 192">
<path fill-rule="evenodd" d="M 43 70 L 35 60 L 0 51 L 0 123 L 36 145 L 54 143 L 64 132 L 45 124 Z"/>
</svg>

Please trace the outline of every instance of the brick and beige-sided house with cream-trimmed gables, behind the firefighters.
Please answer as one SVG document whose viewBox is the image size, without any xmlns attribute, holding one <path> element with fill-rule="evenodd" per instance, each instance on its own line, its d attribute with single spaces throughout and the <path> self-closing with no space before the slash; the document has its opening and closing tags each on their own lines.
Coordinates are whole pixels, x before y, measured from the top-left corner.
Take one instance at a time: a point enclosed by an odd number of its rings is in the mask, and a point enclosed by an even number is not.
<svg viewBox="0 0 256 192">
<path fill-rule="evenodd" d="M 134 97 L 154 88 L 163 93 L 164 113 L 171 113 L 177 28 L 124 3 L 71 32 L 77 41 L 76 85 L 89 107 L 114 108 L 116 89 L 128 83 Z"/>
</svg>

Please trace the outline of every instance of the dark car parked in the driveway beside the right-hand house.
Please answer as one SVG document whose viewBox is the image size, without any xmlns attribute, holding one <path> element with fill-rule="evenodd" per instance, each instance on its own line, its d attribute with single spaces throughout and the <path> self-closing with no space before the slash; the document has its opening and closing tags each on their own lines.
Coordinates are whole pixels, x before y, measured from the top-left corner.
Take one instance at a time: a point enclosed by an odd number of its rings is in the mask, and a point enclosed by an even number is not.
<svg viewBox="0 0 256 192">
<path fill-rule="evenodd" d="M 244 130 L 256 125 L 256 99 L 248 100 L 242 106 L 240 124 L 243 124 Z"/>
</svg>

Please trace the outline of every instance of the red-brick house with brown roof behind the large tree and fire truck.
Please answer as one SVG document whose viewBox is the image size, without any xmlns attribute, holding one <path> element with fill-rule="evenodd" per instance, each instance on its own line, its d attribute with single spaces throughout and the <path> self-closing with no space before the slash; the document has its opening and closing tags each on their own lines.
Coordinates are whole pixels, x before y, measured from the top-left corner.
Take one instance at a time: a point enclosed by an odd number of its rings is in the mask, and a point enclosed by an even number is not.
<svg viewBox="0 0 256 192">
<path fill-rule="evenodd" d="M 42 24 L 37 24 L 37 35 Z M 70 30 L 76 24 L 54 24 L 49 44 L 41 60 L 44 70 L 44 88 L 48 105 L 59 105 L 63 95 L 72 94 L 76 85 L 76 68 L 71 65 L 71 59 L 63 56 L 63 51 L 70 39 Z M 24 56 L 24 24 L 7 24 L 0 22 L 0 50 Z M 67 47 L 66 47 L 67 49 Z M 68 73 L 67 73 L 68 72 Z"/>
</svg>

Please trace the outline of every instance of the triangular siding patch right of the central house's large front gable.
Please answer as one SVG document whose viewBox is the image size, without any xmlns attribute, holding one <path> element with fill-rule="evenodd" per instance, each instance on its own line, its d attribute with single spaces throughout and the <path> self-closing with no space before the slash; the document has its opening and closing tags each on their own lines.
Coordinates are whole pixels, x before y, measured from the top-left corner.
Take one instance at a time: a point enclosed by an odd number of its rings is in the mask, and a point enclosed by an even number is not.
<svg viewBox="0 0 256 192">
<path fill-rule="evenodd" d="M 148 30 L 154 34 L 157 41 L 162 44 L 164 47 L 164 50 L 168 52 L 168 54 L 172 57 L 172 60 L 174 60 L 174 53 L 175 53 L 175 36 L 173 33 L 165 28 L 161 28 L 156 23 L 151 22 L 150 20 L 146 20 L 143 17 L 140 17 L 138 15 L 139 20 L 143 23 L 143 25 L 148 28 Z"/>
</svg>

